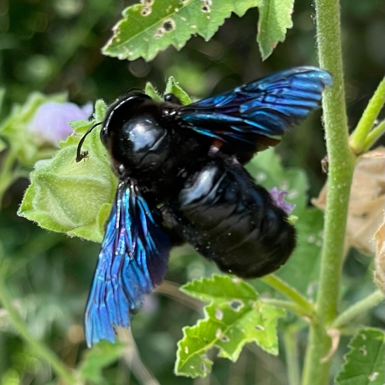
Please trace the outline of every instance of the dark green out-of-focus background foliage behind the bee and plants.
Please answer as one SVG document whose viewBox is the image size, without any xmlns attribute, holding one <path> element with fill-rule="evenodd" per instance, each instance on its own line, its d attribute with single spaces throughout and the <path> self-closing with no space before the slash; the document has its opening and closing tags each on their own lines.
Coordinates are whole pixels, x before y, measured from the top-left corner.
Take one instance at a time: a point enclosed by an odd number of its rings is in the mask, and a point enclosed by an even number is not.
<svg viewBox="0 0 385 385">
<path fill-rule="evenodd" d="M 121 11 L 131 3 L 0 0 L 0 85 L 6 89 L 1 118 L 35 90 L 47 94 L 64 90 L 69 100 L 80 105 L 99 98 L 111 103 L 147 81 L 162 90 L 167 77 L 174 76 L 193 97 L 201 98 L 272 71 L 317 63 L 314 8 L 307 0 L 295 1 L 293 28 L 265 62 L 255 41 L 256 8 L 244 18 L 233 15 L 226 20 L 211 41 L 193 37 L 180 52 L 169 48 L 153 62 L 104 57 L 100 50 Z M 341 6 L 346 103 L 354 127 L 385 73 L 385 8 L 382 0 L 343 0 Z M 320 166 L 325 155 L 320 113 L 290 132 L 277 151 L 284 165 L 307 172 L 309 197 L 316 196 L 325 181 Z M 20 179 L 3 198 L 1 268 L 30 330 L 74 366 L 85 350 L 83 309 L 99 245 L 46 232 L 18 218 L 15 213 L 27 186 L 27 179 Z M 351 251 L 344 267 L 346 279 L 360 282 L 368 265 L 370 258 Z M 188 302 L 177 285 L 214 271 L 214 265 L 189 248 L 174 252 L 167 282 L 134 320 L 141 364 L 160 384 L 286 384 L 284 357 L 268 356 L 256 346 L 248 346 L 237 364 L 217 359 L 207 379 L 176 379 L 172 374 L 181 328 L 202 316 L 200 304 Z M 384 319 L 385 314 L 378 312 L 371 315 L 373 325 Z M 132 374 L 124 360 L 105 374 L 111 384 L 141 383 L 140 374 Z M 0 309 L 0 384 L 48 384 L 51 376 L 48 365 L 15 335 Z M 15 379 L 20 382 L 12 382 Z"/>
</svg>

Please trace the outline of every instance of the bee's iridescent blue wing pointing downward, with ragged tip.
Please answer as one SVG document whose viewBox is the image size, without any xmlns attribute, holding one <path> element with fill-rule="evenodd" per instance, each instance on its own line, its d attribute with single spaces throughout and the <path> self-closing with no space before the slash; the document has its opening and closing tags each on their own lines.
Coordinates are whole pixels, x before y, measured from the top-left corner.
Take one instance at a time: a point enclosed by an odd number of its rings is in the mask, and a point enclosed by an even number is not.
<svg viewBox="0 0 385 385">
<path fill-rule="evenodd" d="M 85 310 L 85 339 L 115 341 L 147 293 L 162 281 L 170 242 L 135 183 L 120 180 Z"/>
</svg>

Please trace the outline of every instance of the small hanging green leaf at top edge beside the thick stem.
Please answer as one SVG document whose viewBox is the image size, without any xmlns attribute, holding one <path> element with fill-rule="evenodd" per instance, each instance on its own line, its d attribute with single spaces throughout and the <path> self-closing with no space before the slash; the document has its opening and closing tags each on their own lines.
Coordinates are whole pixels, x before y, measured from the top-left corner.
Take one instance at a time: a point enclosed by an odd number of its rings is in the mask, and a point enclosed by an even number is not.
<svg viewBox="0 0 385 385">
<path fill-rule="evenodd" d="M 294 0 L 262 0 L 258 18 L 257 41 L 262 60 L 267 59 L 279 41 L 284 41 L 286 30 L 293 27 L 291 14 Z"/>
</svg>

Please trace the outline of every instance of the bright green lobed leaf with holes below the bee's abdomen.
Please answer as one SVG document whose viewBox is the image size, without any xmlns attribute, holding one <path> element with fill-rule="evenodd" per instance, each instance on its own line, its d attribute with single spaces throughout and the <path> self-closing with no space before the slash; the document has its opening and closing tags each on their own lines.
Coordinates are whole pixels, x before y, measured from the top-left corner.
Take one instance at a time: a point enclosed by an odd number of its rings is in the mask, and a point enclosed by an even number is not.
<svg viewBox="0 0 385 385">
<path fill-rule="evenodd" d="M 207 352 L 216 346 L 218 356 L 235 361 L 245 344 L 255 342 L 265 351 L 277 354 L 276 323 L 285 315 L 283 309 L 258 299 L 258 293 L 244 281 L 215 275 L 188 283 L 184 291 L 212 300 L 204 307 L 204 319 L 183 328 L 178 343 L 176 374 L 205 377 L 212 361 Z"/>
</svg>

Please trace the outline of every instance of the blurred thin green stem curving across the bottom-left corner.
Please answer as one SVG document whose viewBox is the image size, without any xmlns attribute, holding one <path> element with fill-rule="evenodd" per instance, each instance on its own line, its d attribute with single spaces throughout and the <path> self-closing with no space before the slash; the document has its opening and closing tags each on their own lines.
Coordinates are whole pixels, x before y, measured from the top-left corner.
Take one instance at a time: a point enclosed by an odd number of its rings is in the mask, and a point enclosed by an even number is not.
<svg viewBox="0 0 385 385">
<path fill-rule="evenodd" d="M 52 366 L 52 369 L 57 373 L 57 375 L 62 379 L 64 384 L 76 384 L 76 379 L 73 377 L 68 368 L 62 363 L 62 361 L 55 356 L 55 353 L 50 351 L 45 347 L 45 345 L 38 342 L 34 339 L 29 330 L 27 329 L 25 323 L 22 321 L 22 318 L 18 314 L 18 311 L 13 307 L 12 300 L 8 295 L 8 290 L 6 288 L 3 274 L 0 272 L 0 302 L 3 304 L 4 309 L 8 313 L 11 324 L 13 327 L 18 330 L 20 336 L 25 339 L 25 341 L 31 346 L 31 351 L 39 356 L 43 360 L 46 360 Z"/>
</svg>

